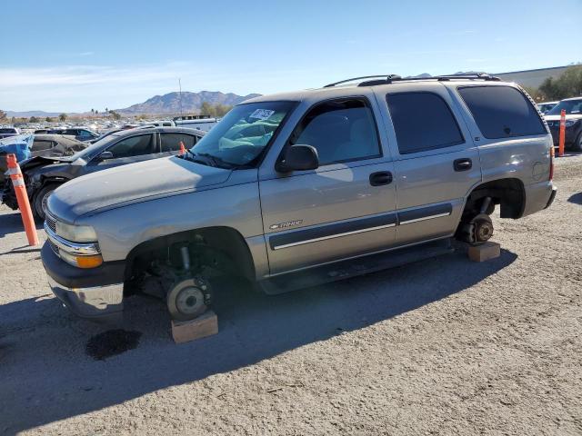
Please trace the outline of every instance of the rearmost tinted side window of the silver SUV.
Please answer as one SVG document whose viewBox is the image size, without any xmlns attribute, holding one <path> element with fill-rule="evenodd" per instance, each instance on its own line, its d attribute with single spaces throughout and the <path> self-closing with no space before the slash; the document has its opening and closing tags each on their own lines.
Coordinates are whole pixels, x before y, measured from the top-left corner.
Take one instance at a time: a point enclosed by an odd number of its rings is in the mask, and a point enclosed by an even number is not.
<svg viewBox="0 0 582 436">
<path fill-rule="evenodd" d="M 511 86 L 458 88 L 479 130 L 488 139 L 546 134 L 537 110 Z"/>
</svg>

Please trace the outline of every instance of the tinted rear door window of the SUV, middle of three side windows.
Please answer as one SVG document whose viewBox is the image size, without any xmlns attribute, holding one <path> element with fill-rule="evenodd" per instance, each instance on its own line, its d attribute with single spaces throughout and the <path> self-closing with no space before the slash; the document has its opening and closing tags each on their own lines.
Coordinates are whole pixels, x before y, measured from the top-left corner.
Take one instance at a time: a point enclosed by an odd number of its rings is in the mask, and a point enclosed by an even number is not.
<svg viewBox="0 0 582 436">
<path fill-rule="evenodd" d="M 447 102 L 432 93 L 387 94 L 400 154 L 463 144 L 465 140 Z"/>
</svg>

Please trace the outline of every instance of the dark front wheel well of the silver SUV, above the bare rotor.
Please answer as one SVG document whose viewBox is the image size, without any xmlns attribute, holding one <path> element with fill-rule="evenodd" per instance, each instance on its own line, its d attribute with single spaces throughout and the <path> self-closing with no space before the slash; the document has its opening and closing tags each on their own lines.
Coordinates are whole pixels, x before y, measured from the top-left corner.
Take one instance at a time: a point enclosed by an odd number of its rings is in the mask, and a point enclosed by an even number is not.
<svg viewBox="0 0 582 436">
<path fill-rule="evenodd" d="M 206 227 L 140 243 L 127 255 L 125 279 L 132 279 L 139 272 L 146 271 L 155 260 L 179 263 L 179 247 L 185 245 L 189 248 L 193 263 L 255 280 L 255 264 L 245 239 L 231 227 Z"/>
</svg>

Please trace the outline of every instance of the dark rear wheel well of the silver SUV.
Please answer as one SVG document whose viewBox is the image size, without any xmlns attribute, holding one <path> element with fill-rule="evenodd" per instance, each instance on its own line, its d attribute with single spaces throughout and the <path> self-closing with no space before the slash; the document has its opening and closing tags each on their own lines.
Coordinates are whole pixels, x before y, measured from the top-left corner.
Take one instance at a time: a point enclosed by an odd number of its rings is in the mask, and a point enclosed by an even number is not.
<svg viewBox="0 0 582 436">
<path fill-rule="evenodd" d="M 491 197 L 493 204 L 499 204 L 501 218 L 517 219 L 524 213 L 526 192 L 519 179 L 499 179 L 479 184 L 469 194 L 463 218 L 473 217 L 480 212 L 485 198 Z"/>
</svg>

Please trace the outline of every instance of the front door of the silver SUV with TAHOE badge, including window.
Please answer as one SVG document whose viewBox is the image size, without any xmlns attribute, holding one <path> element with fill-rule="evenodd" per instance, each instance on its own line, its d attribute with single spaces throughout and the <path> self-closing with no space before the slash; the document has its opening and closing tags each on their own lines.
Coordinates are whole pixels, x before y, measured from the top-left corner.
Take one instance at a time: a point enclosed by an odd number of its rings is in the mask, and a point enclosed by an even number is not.
<svg viewBox="0 0 582 436">
<path fill-rule="evenodd" d="M 315 104 L 286 144 L 314 146 L 319 167 L 261 173 L 271 274 L 381 251 L 395 243 L 394 164 L 383 150 L 386 136 L 378 119 L 376 106 L 364 96 Z"/>
</svg>

